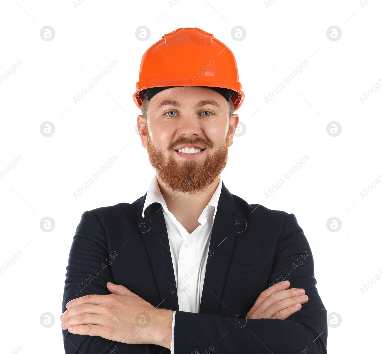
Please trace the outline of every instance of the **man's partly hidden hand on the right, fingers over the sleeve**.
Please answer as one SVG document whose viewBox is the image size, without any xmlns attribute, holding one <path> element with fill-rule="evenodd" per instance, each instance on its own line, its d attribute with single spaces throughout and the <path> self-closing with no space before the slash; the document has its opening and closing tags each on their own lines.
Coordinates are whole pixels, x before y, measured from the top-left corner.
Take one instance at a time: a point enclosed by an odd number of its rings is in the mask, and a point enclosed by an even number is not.
<svg viewBox="0 0 382 354">
<path fill-rule="evenodd" d="M 246 317 L 285 320 L 294 312 L 301 310 L 301 304 L 308 302 L 309 298 L 304 295 L 304 289 L 288 289 L 289 286 L 289 281 L 285 280 L 264 290 Z"/>
</svg>

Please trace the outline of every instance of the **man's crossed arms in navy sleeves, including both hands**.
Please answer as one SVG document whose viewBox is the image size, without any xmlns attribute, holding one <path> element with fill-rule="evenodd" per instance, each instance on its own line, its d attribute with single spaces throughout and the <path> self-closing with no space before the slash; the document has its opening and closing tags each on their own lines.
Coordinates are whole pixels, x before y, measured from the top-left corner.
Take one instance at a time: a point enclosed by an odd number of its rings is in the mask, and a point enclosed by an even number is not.
<svg viewBox="0 0 382 354">
<path fill-rule="evenodd" d="M 263 291 L 246 318 L 176 311 L 175 353 L 202 352 L 204 345 L 210 348 L 207 351 L 224 350 L 225 354 L 249 350 L 305 354 L 310 349 L 314 353 L 327 353 L 326 310 L 315 286 L 311 250 L 294 215 L 290 214 L 287 219 L 277 244 L 270 279 L 279 278 L 283 268 L 304 253 L 296 253 L 296 244 L 298 249 L 308 250 L 304 263 L 295 268 L 286 283 L 275 283 Z M 106 236 L 99 237 L 102 233 L 105 231 L 94 214 L 85 212 L 73 239 L 67 268 L 63 299 L 63 310 L 66 310 L 62 315 L 65 352 L 169 353 L 173 311 L 155 308 L 124 286 L 106 284 L 113 280 L 110 267 L 89 283 L 88 295 L 76 293 L 76 298 L 66 299 L 73 297 L 74 284 L 87 276 L 71 272 L 80 262 L 83 269 L 81 258 L 86 257 L 90 270 L 98 267 L 107 255 Z M 94 250 L 91 255 L 89 249 Z M 302 294 L 298 289 L 302 289 Z M 300 297 L 303 295 L 306 295 L 304 299 Z"/>
</svg>

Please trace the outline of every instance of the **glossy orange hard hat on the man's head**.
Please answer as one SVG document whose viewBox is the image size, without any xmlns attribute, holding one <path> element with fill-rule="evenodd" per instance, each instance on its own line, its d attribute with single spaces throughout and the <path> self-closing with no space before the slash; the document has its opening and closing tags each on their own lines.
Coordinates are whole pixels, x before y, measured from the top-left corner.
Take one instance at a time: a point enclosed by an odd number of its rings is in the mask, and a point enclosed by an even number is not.
<svg viewBox="0 0 382 354">
<path fill-rule="evenodd" d="M 165 86 L 231 89 L 234 112 L 244 101 L 232 51 L 213 34 L 196 27 L 165 34 L 143 54 L 133 94 L 137 107 L 142 106 L 143 90 Z"/>
</svg>

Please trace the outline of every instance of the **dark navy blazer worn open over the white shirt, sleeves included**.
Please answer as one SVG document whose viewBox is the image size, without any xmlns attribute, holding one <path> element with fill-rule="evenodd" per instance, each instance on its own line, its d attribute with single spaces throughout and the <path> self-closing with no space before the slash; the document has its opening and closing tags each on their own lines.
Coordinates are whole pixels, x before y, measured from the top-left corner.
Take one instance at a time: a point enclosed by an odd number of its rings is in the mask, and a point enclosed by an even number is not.
<svg viewBox="0 0 382 354">
<path fill-rule="evenodd" d="M 147 194 L 147 193 L 146 193 Z M 248 204 L 222 184 L 212 228 L 199 314 L 179 311 L 161 205 L 132 204 L 86 211 L 70 249 L 66 303 L 87 294 L 110 294 L 106 283 L 126 286 L 154 307 L 176 310 L 176 354 L 326 354 L 327 312 L 316 288 L 312 251 L 293 214 Z M 309 301 L 286 320 L 247 319 L 257 297 L 289 280 Z M 125 344 L 63 330 L 67 354 L 169 354 L 154 344 Z"/>
</svg>

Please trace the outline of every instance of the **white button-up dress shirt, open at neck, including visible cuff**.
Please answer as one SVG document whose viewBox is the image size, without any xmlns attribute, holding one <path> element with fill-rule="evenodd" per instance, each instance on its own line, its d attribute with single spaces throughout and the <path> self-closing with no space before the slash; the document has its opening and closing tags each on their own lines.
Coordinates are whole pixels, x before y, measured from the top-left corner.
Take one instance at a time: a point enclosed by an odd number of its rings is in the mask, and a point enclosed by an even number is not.
<svg viewBox="0 0 382 354">
<path fill-rule="evenodd" d="M 160 203 L 162 205 L 174 267 L 176 282 L 174 291 L 178 296 L 180 311 L 199 313 L 207 259 L 209 258 L 208 250 L 212 225 L 214 224 L 221 190 L 222 179 L 220 178 L 219 185 L 210 202 L 197 220 L 201 225 L 197 226 L 191 234 L 167 209 L 166 202 L 158 186 L 157 175 L 152 179 L 147 191 L 142 217 L 144 218 L 144 211 L 151 203 Z M 174 327 L 175 311 L 172 318 L 171 354 L 174 354 Z"/>
</svg>

